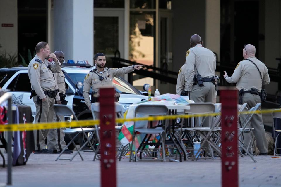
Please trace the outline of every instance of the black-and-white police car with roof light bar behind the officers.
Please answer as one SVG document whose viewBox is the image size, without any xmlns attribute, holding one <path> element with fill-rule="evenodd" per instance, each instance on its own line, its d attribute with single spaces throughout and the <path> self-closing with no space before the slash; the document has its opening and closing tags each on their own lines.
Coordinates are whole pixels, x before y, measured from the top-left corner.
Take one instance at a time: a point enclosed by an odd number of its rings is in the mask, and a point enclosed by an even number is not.
<svg viewBox="0 0 281 187">
<path fill-rule="evenodd" d="M 81 68 L 80 66 L 62 67 L 66 83 L 65 99 L 68 101 L 67 105 L 73 108 L 78 120 L 92 119 L 92 113 L 88 110 L 83 97 L 83 81 L 90 70 L 92 70 L 92 68 Z M 121 77 L 114 77 L 113 85 L 116 91 L 120 93 L 119 103 L 123 106 L 124 111 L 126 111 L 132 103 L 148 99 L 148 96 L 144 96 L 139 90 Z M 10 90 L 13 104 L 30 106 L 32 116 L 35 118 L 35 104 L 33 100 L 29 98 L 31 85 L 27 67 L 0 69 L 0 87 Z M 70 121 L 71 119 L 70 117 L 66 117 L 65 120 Z M 92 136 L 92 134 L 89 136 Z M 79 138 L 79 144 L 82 143 L 83 145 L 84 141 L 85 138 Z"/>
</svg>

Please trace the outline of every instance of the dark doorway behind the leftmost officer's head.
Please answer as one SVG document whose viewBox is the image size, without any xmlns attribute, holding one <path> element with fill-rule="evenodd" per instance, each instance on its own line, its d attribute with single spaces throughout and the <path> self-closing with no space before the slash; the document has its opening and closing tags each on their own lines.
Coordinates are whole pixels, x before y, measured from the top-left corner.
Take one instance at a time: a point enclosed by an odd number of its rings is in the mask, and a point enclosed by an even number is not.
<svg viewBox="0 0 281 187">
<path fill-rule="evenodd" d="M 28 49 L 33 58 L 36 44 L 47 42 L 47 7 L 47 0 L 18 0 L 18 53 L 27 64 L 30 60 Z M 20 55 L 18 60 L 22 61 Z"/>
</svg>

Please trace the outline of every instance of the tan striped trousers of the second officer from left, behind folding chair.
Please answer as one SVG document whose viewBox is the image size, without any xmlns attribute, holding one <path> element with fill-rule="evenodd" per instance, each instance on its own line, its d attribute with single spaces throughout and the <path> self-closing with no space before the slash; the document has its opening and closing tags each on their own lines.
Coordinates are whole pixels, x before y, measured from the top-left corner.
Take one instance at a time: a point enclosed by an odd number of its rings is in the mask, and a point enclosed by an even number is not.
<svg viewBox="0 0 281 187">
<path fill-rule="evenodd" d="M 59 118 L 64 121 L 64 116 L 59 116 Z M 54 122 L 59 122 L 59 118 L 54 114 Z M 64 141 L 64 130 L 65 128 L 60 129 L 50 129 L 47 136 L 47 147 L 48 149 L 53 149 L 57 151 L 62 151 L 66 148 L 66 143 Z"/>
</svg>

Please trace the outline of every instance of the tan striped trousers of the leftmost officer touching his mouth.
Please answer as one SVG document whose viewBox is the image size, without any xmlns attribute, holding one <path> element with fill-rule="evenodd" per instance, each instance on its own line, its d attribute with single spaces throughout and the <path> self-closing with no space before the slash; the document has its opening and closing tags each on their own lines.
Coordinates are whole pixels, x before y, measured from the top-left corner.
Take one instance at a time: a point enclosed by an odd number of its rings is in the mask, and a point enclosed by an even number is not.
<svg viewBox="0 0 281 187">
<path fill-rule="evenodd" d="M 42 102 L 41 100 L 37 101 L 37 97 L 33 97 L 36 107 L 35 123 L 52 122 L 54 118 L 53 105 L 55 104 L 55 98 L 50 98 L 46 95 L 47 100 Z M 45 141 L 48 132 L 49 129 L 34 130 L 35 150 L 46 149 Z"/>
</svg>

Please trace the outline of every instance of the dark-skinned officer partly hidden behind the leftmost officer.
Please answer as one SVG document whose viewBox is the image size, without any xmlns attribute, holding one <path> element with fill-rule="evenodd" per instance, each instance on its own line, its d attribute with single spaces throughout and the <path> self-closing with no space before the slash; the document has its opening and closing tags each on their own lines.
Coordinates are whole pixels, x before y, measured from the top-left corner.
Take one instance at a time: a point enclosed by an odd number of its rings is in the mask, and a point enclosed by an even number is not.
<svg viewBox="0 0 281 187">
<path fill-rule="evenodd" d="M 55 51 L 54 54 L 56 55 L 56 58 L 59 60 L 61 64 L 64 63 L 64 53 L 61 51 Z M 59 73 L 54 73 L 55 81 L 58 85 L 59 94 L 56 96 L 56 103 L 57 104 L 67 104 L 67 101 L 65 100 L 65 77 L 64 73 L 61 71 Z M 64 119 L 64 116 L 60 116 L 61 120 Z M 59 118 L 56 114 L 54 114 L 54 122 L 58 122 Z M 48 136 L 47 136 L 47 147 L 48 149 L 53 149 L 54 153 L 61 153 L 61 151 L 66 148 L 66 143 L 64 141 L 64 130 L 65 128 L 59 128 L 59 129 L 50 129 Z M 69 154 L 73 153 L 72 150 L 66 149 L 64 153 Z"/>
</svg>

